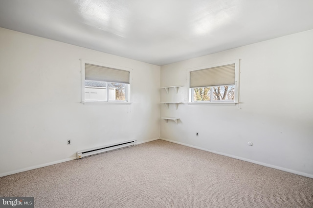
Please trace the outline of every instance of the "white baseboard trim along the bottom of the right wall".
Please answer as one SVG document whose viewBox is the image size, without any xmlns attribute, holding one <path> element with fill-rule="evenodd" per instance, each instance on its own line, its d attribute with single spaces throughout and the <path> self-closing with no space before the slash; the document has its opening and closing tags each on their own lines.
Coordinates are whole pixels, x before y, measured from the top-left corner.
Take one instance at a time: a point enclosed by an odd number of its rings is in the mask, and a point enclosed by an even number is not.
<svg viewBox="0 0 313 208">
<path fill-rule="evenodd" d="M 283 171 L 291 172 L 291 173 L 294 173 L 294 174 L 297 174 L 297 175 L 302 175 L 302 176 L 305 176 L 305 177 L 308 177 L 308 178 L 313 178 L 313 174 L 300 172 L 300 171 L 297 171 L 297 170 L 291 170 L 291 169 L 287 169 L 287 168 L 282 168 L 282 167 L 279 167 L 279 166 L 274 166 L 274 165 L 270 165 L 270 164 L 267 164 L 267 163 L 262 163 L 262 162 L 259 162 L 259 161 L 246 159 L 244 157 L 238 157 L 238 156 L 231 155 L 231 154 L 225 154 L 225 153 L 219 152 L 219 151 L 208 150 L 208 149 L 205 149 L 205 148 L 201 148 L 201 147 L 185 144 L 185 143 L 182 143 L 182 142 L 177 142 L 177 141 L 174 141 L 174 140 L 171 140 L 171 139 L 165 139 L 165 138 L 161 138 L 161 137 L 160 137 L 160 139 L 164 140 L 164 141 L 168 141 L 168 142 L 173 142 L 173 143 L 176 143 L 176 144 L 184 145 L 184 146 L 187 146 L 187 147 L 203 150 L 203 151 L 209 151 L 209 152 L 212 152 L 212 153 L 221 154 L 221 155 L 224 155 L 224 156 L 227 156 L 227 157 L 232 157 L 232 158 L 243 160 L 243 161 L 246 161 L 246 162 L 255 163 L 255 164 L 258 164 L 258 165 L 261 165 L 261 166 L 266 166 L 268 168 L 273 168 L 273 169 L 277 169 L 277 170 L 283 170 Z"/>
</svg>

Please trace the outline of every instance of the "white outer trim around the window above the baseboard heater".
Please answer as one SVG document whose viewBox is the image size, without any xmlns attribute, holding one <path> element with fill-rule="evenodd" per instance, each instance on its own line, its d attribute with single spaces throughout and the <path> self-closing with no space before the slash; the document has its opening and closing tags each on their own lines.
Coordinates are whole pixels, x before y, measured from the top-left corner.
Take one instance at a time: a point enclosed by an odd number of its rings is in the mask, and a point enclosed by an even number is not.
<svg viewBox="0 0 313 208">
<path fill-rule="evenodd" d="M 93 64 L 93 65 L 97 65 L 97 66 L 103 66 L 103 67 L 108 67 L 108 68 L 113 68 L 113 69 L 121 69 L 121 70 L 125 70 L 125 71 L 129 71 L 131 73 L 131 71 L 133 69 L 131 68 L 127 68 L 127 67 L 122 67 L 122 66 L 115 66 L 115 65 L 111 65 L 111 64 L 105 64 L 105 63 L 100 63 L 97 61 L 90 61 L 90 60 L 86 60 L 86 59 L 80 59 L 81 60 L 81 86 L 82 86 L 82 101 L 81 103 L 84 103 L 84 105 L 129 105 L 132 102 L 130 101 L 131 99 L 131 80 L 130 83 L 128 85 L 128 92 L 127 92 L 127 97 L 128 100 L 127 101 L 86 101 L 85 100 L 85 64 Z"/>
</svg>

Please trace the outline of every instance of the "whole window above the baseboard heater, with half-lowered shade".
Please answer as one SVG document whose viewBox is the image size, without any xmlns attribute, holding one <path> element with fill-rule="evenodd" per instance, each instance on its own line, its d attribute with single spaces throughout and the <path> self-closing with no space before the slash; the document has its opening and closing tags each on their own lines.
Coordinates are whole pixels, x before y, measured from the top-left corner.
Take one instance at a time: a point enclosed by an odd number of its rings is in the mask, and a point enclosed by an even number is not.
<svg viewBox="0 0 313 208">
<path fill-rule="evenodd" d="M 130 71 L 82 60 L 82 102 L 129 102 Z"/>
</svg>

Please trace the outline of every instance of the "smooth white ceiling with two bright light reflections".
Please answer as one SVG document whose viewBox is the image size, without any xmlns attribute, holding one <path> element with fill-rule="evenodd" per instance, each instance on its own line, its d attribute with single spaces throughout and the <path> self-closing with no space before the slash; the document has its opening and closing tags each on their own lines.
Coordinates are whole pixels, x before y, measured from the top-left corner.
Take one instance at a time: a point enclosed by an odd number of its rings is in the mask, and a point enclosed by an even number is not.
<svg viewBox="0 0 313 208">
<path fill-rule="evenodd" d="M 313 0 L 0 0 L 0 27 L 165 65 L 313 29 Z"/>
</svg>

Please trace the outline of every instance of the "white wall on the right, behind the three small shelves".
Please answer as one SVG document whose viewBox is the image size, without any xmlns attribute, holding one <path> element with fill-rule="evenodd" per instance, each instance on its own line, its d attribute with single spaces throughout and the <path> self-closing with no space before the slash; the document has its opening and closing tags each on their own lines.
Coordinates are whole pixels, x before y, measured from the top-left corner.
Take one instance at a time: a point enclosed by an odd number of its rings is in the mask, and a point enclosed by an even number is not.
<svg viewBox="0 0 313 208">
<path fill-rule="evenodd" d="M 184 87 L 161 102 L 187 102 L 188 68 L 239 58 L 241 104 L 161 105 L 180 120 L 161 120 L 160 137 L 313 177 L 313 30 L 162 66 L 161 87 Z"/>
</svg>

